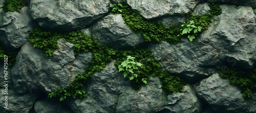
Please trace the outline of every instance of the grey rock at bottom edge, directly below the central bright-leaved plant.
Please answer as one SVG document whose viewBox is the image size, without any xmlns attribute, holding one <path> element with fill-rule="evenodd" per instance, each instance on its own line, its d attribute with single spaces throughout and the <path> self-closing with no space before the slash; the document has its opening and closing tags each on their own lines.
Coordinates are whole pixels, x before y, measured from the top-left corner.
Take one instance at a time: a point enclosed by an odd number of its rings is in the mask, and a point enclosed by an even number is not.
<svg viewBox="0 0 256 113">
<path fill-rule="evenodd" d="M 148 113 L 156 112 L 163 108 L 163 91 L 159 78 L 151 77 L 148 84 L 139 91 L 127 87 L 119 98 L 116 112 Z"/>
</svg>

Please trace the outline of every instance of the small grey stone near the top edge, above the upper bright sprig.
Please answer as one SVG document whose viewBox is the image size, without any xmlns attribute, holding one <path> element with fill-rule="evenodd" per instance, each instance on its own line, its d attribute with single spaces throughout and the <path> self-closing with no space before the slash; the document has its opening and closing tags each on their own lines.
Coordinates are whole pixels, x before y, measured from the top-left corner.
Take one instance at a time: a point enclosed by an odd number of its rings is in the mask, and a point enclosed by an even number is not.
<svg viewBox="0 0 256 113">
<path fill-rule="evenodd" d="M 194 14 L 196 15 L 203 15 L 207 13 L 210 13 L 210 7 L 208 6 L 208 3 L 199 4 L 194 10 Z"/>
</svg>

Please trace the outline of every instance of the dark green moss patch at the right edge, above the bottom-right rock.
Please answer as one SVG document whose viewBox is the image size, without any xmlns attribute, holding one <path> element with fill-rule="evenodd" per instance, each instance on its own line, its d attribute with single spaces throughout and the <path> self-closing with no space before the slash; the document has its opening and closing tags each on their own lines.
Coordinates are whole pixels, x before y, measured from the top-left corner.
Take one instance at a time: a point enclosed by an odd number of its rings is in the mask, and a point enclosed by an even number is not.
<svg viewBox="0 0 256 113">
<path fill-rule="evenodd" d="M 228 79 L 230 84 L 238 86 L 244 98 L 251 98 L 252 93 L 256 92 L 256 68 L 247 72 L 229 69 L 227 73 L 220 72 L 219 75 Z"/>
</svg>

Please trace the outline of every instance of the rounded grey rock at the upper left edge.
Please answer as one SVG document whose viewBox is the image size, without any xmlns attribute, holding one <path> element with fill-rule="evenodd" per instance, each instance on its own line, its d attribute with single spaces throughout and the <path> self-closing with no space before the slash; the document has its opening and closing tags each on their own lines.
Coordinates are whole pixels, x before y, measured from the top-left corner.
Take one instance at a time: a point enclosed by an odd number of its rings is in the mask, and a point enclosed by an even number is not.
<svg viewBox="0 0 256 113">
<path fill-rule="evenodd" d="M 22 8 L 20 12 L 6 12 L 2 22 L 0 14 L 0 41 L 8 49 L 22 47 L 33 28 L 29 7 Z"/>
</svg>

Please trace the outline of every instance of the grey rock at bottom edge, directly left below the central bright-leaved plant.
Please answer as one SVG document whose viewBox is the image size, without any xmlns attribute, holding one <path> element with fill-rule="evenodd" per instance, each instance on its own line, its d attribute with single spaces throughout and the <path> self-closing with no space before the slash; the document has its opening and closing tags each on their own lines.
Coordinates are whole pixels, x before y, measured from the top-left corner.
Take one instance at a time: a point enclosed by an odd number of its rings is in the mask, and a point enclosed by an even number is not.
<svg viewBox="0 0 256 113">
<path fill-rule="evenodd" d="M 67 104 L 76 112 L 115 112 L 118 96 L 129 84 L 111 62 L 87 81 L 87 98 L 72 99 Z"/>
</svg>

